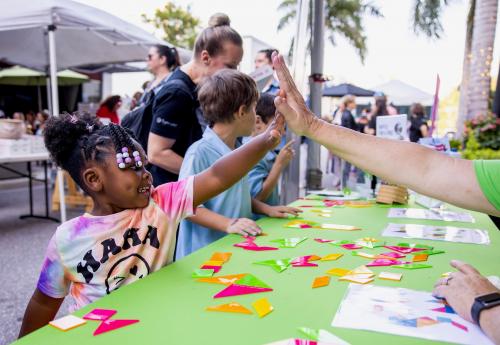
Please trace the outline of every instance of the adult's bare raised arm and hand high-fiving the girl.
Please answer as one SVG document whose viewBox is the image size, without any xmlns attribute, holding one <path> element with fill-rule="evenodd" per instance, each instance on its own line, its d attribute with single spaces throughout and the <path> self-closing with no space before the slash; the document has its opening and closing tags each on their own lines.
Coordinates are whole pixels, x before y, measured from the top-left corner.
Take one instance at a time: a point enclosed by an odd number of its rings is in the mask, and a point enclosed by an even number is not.
<svg viewBox="0 0 500 345">
<path fill-rule="evenodd" d="M 275 56 L 273 63 L 284 96 L 276 98 L 276 107 L 294 132 L 390 183 L 463 208 L 500 215 L 482 192 L 472 161 L 451 158 L 418 144 L 332 126 L 307 109 L 283 57 Z"/>
</svg>

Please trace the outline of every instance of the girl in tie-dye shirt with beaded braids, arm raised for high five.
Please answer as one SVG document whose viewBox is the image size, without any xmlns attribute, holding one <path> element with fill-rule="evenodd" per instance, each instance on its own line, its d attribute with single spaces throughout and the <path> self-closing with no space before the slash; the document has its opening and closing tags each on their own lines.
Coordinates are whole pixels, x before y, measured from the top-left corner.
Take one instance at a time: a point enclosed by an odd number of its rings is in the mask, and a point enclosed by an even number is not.
<svg viewBox="0 0 500 345">
<path fill-rule="evenodd" d="M 94 209 L 61 224 L 50 240 L 20 336 L 52 320 L 68 294 L 75 310 L 171 263 L 181 219 L 241 179 L 279 143 L 282 130 L 280 119 L 252 145 L 155 189 L 146 155 L 125 129 L 90 115 L 51 118 L 45 145 Z"/>
</svg>

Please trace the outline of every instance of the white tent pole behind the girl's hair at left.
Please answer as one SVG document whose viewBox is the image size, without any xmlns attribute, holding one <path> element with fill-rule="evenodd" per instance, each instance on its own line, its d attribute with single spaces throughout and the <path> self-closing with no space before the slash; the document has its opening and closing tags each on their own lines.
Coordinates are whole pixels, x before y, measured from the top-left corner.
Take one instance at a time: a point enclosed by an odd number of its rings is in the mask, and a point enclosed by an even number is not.
<svg viewBox="0 0 500 345">
<path fill-rule="evenodd" d="M 49 25 L 49 61 L 50 61 L 50 89 L 52 96 L 52 116 L 59 116 L 59 94 L 57 88 L 57 61 L 56 61 L 56 38 L 55 25 Z M 59 185 L 59 200 L 61 203 L 61 222 L 66 221 L 66 198 L 64 196 L 63 171 L 57 169 L 57 183 Z"/>
</svg>

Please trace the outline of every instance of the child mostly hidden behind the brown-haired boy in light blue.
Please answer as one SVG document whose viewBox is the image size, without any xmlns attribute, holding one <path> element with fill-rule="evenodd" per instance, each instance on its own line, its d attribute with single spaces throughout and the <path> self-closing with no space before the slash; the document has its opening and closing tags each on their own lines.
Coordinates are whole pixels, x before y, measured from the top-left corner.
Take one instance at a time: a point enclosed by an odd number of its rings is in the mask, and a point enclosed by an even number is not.
<svg viewBox="0 0 500 345">
<path fill-rule="evenodd" d="M 264 133 L 271 125 L 276 115 L 274 96 L 263 93 L 260 95 L 255 108 L 255 128 L 252 137 Z M 283 170 L 292 160 L 295 151 L 290 147 L 293 141 L 289 141 L 276 154 L 273 151 L 261 159 L 261 161 L 248 174 L 250 183 L 250 194 L 253 198 L 265 202 L 271 206 L 279 205 L 278 181 Z"/>
</svg>

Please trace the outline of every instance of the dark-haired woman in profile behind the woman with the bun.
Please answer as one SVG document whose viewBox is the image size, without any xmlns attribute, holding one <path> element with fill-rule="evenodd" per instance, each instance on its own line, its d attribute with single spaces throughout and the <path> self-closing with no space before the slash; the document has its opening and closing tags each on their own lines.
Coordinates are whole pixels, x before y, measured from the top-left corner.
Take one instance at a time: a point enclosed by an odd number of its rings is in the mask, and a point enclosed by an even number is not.
<svg viewBox="0 0 500 345">
<path fill-rule="evenodd" d="M 147 68 L 154 76 L 151 82 L 144 87 L 144 94 L 140 98 L 138 105 L 147 102 L 151 91 L 158 94 L 166 84 L 172 72 L 181 65 L 179 53 L 175 47 L 157 44 L 149 48 Z"/>
</svg>

